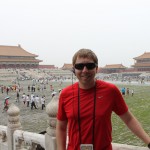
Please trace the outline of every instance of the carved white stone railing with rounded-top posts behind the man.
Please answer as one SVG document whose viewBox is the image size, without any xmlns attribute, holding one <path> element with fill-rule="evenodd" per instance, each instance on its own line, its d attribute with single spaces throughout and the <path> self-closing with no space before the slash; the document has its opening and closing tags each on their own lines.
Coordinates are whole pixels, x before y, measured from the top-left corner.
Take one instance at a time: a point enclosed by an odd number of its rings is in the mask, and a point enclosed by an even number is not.
<svg viewBox="0 0 150 150">
<path fill-rule="evenodd" d="M 45 150 L 56 150 L 56 115 L 59 96 L 56 95 L 46 106 L 49 116 L 49 127 L 46 134 L 37 134 L 21 130 L 19 121 L 20 110 L 14 104 L 8 109 L 8 125 L 0 125 L 0 150 L 36 150 L 41 146 Z M 145 147 L 138 147 L 126 144 L 112 143 L 113 150 L 148 150 Z"/>
</svg>

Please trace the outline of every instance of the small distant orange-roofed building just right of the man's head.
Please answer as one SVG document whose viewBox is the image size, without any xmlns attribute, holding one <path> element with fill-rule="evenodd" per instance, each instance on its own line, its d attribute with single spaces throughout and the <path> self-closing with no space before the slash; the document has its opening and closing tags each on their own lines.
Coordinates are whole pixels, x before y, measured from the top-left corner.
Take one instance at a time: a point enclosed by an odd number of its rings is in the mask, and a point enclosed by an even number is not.
<svg viewBox="0 0 150 150">
<path fill-rule="evenodd" d="M 120 73 L 126 69 L 122 64 L 111 64 L 101 68 L 101 73 Z"/>
</svg>

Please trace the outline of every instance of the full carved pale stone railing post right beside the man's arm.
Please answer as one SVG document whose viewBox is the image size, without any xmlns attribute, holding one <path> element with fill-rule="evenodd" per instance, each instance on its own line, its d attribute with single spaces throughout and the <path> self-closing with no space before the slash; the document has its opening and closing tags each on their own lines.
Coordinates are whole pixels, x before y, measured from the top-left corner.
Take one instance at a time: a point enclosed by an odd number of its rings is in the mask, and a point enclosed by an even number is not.
<svg viewBox="0 0 150 150">
<path fill-rule="evenodd" d="M 49 127 L 45 134 L 45 148 L 46 150 L 56 150 L 56 115 L 58 109 L 59 95 L 55 95 L 50 103 L 46 106 L 46 113 L 49 116 Z"/>
</svg>

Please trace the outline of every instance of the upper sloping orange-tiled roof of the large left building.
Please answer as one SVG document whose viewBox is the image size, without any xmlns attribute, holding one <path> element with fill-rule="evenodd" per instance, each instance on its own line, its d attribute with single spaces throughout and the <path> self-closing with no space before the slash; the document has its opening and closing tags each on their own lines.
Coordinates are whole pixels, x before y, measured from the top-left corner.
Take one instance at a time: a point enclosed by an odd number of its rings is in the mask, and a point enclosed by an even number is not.
<svg viewBox="0 0 150 150">
<path fill-rule="evenodd" d="M 32 57 L 38 57 L 38 55 L 27 52 L 20 45 L 18 45 L 18 46 L 0 45 L 0 56 L 32 56 Z"/>
</svg>

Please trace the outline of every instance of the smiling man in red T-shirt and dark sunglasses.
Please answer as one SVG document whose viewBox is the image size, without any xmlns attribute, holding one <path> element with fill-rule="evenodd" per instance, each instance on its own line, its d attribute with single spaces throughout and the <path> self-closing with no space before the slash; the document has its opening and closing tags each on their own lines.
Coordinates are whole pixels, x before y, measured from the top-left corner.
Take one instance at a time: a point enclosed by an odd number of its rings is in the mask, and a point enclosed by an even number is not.
<svg viewBox="0 0 150 150">
<path fill-rule="evenodd" d="M 64 88 L 60 94 L 56 126 L 57 149 L 66 150 L 68 133 L 67 150 L 112 150 L 112 112 L 143 142 L 149 144 L 150 137 L 128 110 L 118 88 L 95 79 L 98 70 L 95 53 L 81 49 L 73 56 L 72 63 L 79 82 Z"/>
</svg>

